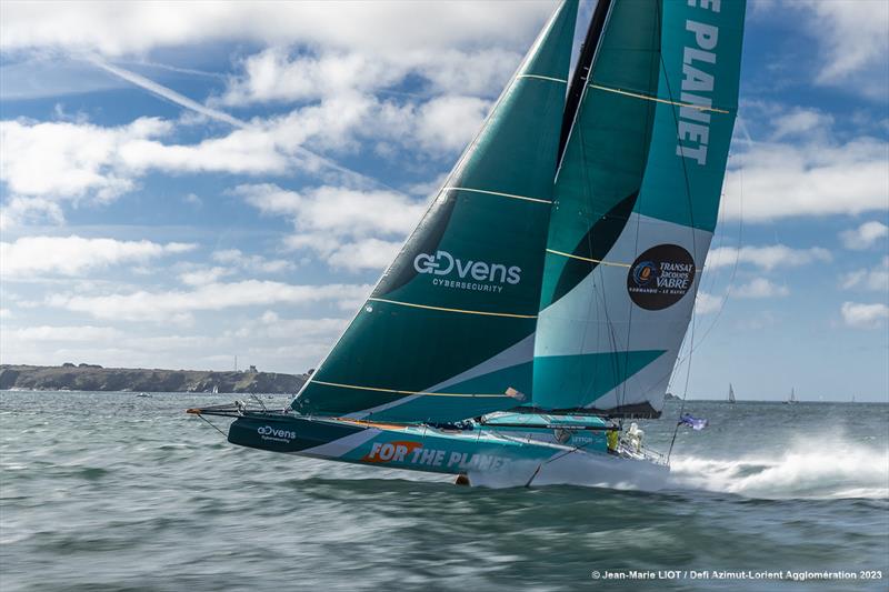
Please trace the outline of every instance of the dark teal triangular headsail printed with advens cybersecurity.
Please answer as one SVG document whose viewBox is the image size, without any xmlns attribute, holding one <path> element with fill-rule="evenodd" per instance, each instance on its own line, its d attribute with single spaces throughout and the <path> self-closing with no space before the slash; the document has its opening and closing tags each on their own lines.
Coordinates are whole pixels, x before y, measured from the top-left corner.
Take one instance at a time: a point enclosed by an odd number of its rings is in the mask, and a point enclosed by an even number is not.
<svg viewBox="0 0 889 592">
<path fill-rule="evenodd" d="M 444 422 L 530 392 L 576 19 L 566 0 L 294 410 Z"/>
</svg>

